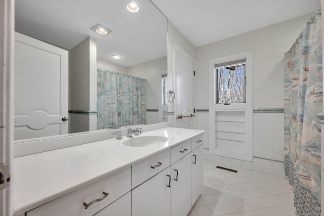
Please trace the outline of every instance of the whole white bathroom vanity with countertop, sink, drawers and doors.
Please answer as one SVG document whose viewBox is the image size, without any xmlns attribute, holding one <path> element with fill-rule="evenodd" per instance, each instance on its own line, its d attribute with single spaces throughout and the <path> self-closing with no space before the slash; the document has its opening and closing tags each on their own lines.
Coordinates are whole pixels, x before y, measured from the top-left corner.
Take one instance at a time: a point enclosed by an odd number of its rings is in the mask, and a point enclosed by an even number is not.
<svg viewBox="0 0 324 216">
<path fill-rule="evenodd" d="M 204 131 L 164 127 L 14 159 L 14 215 L 187 215 Z"/>
</svg>

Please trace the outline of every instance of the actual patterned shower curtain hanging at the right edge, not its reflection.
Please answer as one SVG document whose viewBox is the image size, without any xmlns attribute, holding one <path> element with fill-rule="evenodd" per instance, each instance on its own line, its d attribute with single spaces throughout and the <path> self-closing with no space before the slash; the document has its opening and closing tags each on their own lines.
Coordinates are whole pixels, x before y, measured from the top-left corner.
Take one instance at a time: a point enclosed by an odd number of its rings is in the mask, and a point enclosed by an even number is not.
<svg viewBox="0 0 324 216">
<path fill-rule="evenodd" d="M 297 215 L 320 215 L 322 112 L 321 16 L 304 24 L 285 54 L 285 174 L 294 187 Z"/>
</svg>

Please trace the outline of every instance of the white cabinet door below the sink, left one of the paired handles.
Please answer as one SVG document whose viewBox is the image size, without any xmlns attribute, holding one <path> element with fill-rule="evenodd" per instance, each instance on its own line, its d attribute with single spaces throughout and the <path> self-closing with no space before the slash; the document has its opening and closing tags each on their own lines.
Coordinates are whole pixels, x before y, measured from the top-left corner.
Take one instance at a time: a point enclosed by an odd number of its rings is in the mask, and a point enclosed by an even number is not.
<svg viewBox="0 0 324 216">
<path fill-rule="evenodd" d="M 170 166 L 132 190 L 132 216 L 167 216 L 171 211 Z"/>
</svg>

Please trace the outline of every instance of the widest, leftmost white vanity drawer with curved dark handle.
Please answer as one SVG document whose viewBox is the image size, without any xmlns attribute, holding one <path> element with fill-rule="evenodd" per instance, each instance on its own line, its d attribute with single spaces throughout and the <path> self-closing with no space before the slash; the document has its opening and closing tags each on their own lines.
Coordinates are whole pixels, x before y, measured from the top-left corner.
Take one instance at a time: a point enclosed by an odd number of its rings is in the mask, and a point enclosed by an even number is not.
<svg viewBox="0 0 324 216">
<path fill-rule="evenodd" d="M 93 215 L 130 190 L 131 167 L 128 167 L 102 180 L 94 182 L 86 187 L 80 188 L 31 211 L 28 211 L 26 215 Z M 103 194 L 103 192 L 109 194 L 106 196 Z M 84 203 L 89 204 L 93 200 L 100 199 L 104 196 L 106 196 L 104 199 L 94 202 L 87 209 L 85 209 Z"/>
</svg>

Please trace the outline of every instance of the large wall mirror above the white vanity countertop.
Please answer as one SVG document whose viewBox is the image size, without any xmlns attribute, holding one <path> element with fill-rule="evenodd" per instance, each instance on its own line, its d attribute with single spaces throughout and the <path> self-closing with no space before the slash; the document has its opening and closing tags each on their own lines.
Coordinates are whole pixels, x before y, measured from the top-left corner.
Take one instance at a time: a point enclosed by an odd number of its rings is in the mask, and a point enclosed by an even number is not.
<svg viewBox="0 0 324 216">
<path fill-rule="evenodd" d="M 131 2 L 15 1 L 16 143 L 167 121 L 167 18 Z"/>
</svg>

